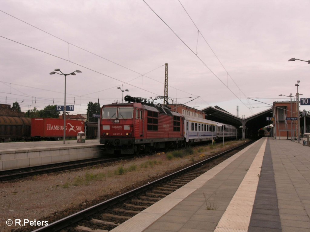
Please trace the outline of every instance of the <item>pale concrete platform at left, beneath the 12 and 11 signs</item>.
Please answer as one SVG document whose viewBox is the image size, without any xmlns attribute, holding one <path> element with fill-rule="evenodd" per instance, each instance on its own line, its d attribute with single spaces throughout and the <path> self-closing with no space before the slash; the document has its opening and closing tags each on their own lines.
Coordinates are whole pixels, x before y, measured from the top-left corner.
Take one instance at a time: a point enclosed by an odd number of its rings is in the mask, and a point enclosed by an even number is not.
<svg viewBox="0 0 310 232">
<path fill-rule="evenodd" d="M 0 171 L 97 158 L 101 146 L 98 140 L 0 143 Z"/>
</svg>

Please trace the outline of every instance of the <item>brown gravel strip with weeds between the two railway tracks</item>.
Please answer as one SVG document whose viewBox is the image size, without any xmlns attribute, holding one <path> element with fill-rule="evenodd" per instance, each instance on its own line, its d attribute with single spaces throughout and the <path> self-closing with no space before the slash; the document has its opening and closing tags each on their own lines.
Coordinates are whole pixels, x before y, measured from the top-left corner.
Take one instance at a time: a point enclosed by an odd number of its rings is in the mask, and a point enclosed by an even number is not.
<svg viewBox="0 0 310 232">
<path fill-rule="evenodd" d="M 221 144 L 213 148 L 210 145 L 195 147 L 193 154 L 181 158 L 169 159 L 167 154 L 161 153 L 118 161 L 109 166 L 98 165 L 2 182 L 0 232 L 31 231 L 34 229 L 29 228 L 31 221 L 51 223 L 242 143 L 244 141 L 230 141 L 224 147 Z M 205 156 L 201 156 L 202 153 Z M 13 224 L 8 226 L 7 223 L 11 222 Z"/>
</svg>

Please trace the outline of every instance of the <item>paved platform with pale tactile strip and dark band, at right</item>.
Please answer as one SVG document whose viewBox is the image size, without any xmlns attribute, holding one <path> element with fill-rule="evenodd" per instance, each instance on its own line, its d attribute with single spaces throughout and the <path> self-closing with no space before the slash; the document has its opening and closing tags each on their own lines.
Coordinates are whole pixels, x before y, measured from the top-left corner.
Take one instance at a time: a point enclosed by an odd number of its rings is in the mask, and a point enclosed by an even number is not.
<svg viewBox="0 0 310 232">
<path fill-rule="evenodd" d="M 310 147 L 264 137 L 110 232 L 310 231 Z"/>
</svg>

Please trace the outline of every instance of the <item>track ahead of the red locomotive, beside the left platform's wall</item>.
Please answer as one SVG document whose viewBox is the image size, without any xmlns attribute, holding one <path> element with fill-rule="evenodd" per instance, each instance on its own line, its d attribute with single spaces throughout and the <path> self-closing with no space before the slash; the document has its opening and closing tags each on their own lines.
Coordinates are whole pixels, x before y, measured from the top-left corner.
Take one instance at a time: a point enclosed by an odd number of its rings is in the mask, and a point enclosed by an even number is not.
<svg viewBox="0 0 310 232">
<path fill-rule="evenodd" d="M 0 171 L 0 181 L 24 178 L 27 176 L 51 173 L 74 168 L 92 166 L 96 164 L 109 163 L 124 159 L 131 159 L 134 156 L 117 157 L 117 158 L 91 158 L 78 161 L 67 161 L 55 164 L 38 165 L 33 167 L 17 168 Z"/>
</svg>

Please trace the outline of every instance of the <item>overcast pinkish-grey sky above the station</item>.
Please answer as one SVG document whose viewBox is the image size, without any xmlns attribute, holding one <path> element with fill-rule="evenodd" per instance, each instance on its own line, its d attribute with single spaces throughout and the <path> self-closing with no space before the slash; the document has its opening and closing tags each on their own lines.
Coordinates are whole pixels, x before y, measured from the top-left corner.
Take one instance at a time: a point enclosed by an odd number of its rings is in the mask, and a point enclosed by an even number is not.
<svg viewBox="0 0 310 232">
<path fill-rule="evenodd" d="M 67 76 L 73 113 L 121 101 L 117 87 L 163 96 L 165 63 L 169 97 L 199 110 L 248 117 L 289 101 L 278 95 L 296 95 L 297 80 L 310 98 L 310 64 L 288 62 L 310 59 L 309 0 L 144 1 L 0 0 L 0 103 L 64 105 L 56 68 L 82 71 Z"/>
</svg>

